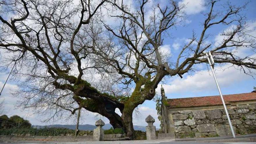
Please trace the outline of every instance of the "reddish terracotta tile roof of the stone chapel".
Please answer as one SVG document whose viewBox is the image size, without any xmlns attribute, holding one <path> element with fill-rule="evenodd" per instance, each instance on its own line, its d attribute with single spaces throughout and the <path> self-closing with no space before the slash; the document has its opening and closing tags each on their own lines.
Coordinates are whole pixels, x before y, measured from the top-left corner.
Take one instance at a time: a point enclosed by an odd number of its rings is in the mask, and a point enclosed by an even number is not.
<svg viewBox="0 0 256 144">
<path fill-rule="evenodd" d="M 223 95 L 223 97 L 224 97 L 225 104 L 230 104 L 230 102 L 256 100 L 256 93 L 252 92 L 252 93 Z M 207 97 L 168 99 L 168 103 L 172 108 L 222 105 L 221 97 L 219 95 L 207 96 Z"/>
</svg>

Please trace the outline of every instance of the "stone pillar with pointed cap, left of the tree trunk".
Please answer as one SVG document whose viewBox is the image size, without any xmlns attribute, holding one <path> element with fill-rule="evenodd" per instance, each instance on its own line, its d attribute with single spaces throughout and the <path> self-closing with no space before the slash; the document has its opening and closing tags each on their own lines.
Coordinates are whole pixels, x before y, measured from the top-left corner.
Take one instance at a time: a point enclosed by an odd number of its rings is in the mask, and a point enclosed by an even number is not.
<svg viewBox="0 0 256 144">
<path fill-rule="evenodd" d="M 102 126 L 105 125 L 105 123 L 99 119 L 95 122 L 96 129 L 93 130 L 93 141 L 103 141 L 104 140 L 104 130 L 102 129 Z"/>
</svg>

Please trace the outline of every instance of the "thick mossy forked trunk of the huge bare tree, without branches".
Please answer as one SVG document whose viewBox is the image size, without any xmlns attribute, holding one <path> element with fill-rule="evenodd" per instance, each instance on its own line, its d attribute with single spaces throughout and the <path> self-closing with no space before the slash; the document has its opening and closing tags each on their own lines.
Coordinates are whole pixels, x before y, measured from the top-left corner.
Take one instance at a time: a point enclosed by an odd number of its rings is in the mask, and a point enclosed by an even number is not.
<svg viewBox="0 0 256 144">
<path fill-rule="evenodd" d="M 114 129 L 122 128 L 125 131 L 126 136 L 132 140 L 134 139 L 134 128 L 132 123 L 133 111 L 139 104 L 143 104 L 146 99 L 152 99 L 155 94 L 154 88 L 152 88 L 150 82 L 144 86 L 144 90 L 141 90 L 141 86 L 144 85 L 144 83 L 145 82 L 138 81 L 133 93 L 124 103 L 98 94 L 96 95 L 99 97 L 98 99 L 83 99 L 78 96 L 73 98 L 88 111 L 99 113 L 108 118 Z M 94 96 L 91 95 L 91 97 Z M 115 113 L 116 108 L 120 109 L 122 116 Z"/>
</svg>

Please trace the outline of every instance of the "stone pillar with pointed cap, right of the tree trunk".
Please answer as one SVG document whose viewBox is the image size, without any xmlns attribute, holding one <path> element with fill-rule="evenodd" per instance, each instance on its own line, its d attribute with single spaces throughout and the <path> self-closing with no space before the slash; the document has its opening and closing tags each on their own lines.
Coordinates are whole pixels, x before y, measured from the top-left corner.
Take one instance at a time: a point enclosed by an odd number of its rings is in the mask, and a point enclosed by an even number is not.
<svg viewBox="0 0 256 144">
<path fill-rule="evenodd" d="M 155 119 L 148 115 L 146 118 L 147 126 L 146 126 L 146 134 L 147 134 L 147 140 L 155 140 L 156 138 L 156 127 L 153 125 L 155 122 Z"/>
</svg>

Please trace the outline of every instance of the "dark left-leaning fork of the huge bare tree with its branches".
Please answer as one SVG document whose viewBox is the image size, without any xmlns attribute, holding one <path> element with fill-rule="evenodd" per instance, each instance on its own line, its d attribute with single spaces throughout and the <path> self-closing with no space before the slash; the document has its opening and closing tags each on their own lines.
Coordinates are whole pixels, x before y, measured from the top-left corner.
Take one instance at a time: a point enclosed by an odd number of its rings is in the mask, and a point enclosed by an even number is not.
<svg viewBox="0 0 256 144">
<path fill-rule="evenodd" d="M 114 112 L 123 104 L 104 93 L 111 86 L 101 81 L 93 87 L 86 81 L 100 68 L 92 59 L 95 40 L 88 29 L 102 19 L 100 11 L 105 3 L 3 1 L 0 49 L 6 55 L 1 56 L 1 70 L 16 61 L 13 77 L 20 80 L 20 89 L 13 95 L 20 97 L 20 107 L 48 115 L 45 121 L 63 119 L 66 112 L 75 114 L 84 108 L 105 116 L 113 127 L 123 127 L 121 117 Z M 17 56 L 20 51 L 21 56 Z M 103 85 L 108 88 L 100 88 Z"/>
</svg>

